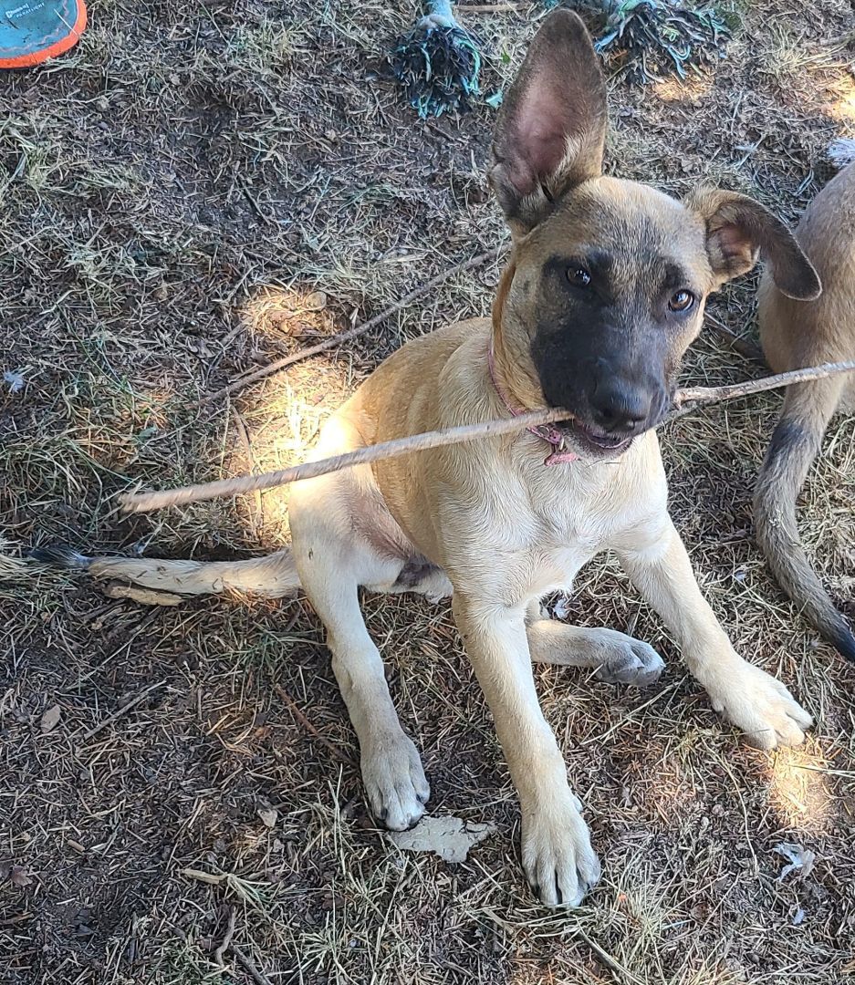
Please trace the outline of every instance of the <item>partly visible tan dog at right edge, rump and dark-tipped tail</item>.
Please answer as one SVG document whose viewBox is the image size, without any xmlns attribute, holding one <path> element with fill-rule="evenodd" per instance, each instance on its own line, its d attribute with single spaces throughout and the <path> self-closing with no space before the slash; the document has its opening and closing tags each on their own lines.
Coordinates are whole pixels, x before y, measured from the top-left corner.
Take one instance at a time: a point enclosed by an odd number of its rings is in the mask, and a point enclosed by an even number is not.
<svg viewBox="0 0 855 985">
<path fill-rule="evenodd" d="M 855 142 L 851 142 L 855 158 Z M 803 304 L 765 274 L 760 283 L 760 342 L 775 372 L 855 360 L 855 164 L 832 178 L 809 206 L 796 238 L 822 276 L 822 297 Z M 796 496 L 837 410 L 855 412 L 855 373 L 787 387 L 757 483 L 756 535 L 784 591 L 847 659 L 855 635 L 834 608 L 805 554 Z"/>
</svg>

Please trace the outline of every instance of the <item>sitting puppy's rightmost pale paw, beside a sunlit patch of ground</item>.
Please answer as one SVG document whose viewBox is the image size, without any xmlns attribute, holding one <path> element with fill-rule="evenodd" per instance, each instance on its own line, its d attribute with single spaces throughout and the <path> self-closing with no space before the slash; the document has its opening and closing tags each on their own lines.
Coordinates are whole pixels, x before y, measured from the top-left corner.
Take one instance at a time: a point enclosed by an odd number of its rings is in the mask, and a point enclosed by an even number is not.
<svg viewBox="0 0 855 985">
<path fill-rule="evenodd" d="M 743 661 L 707 688 L 712 706 L 759 749 L 799 746 L 814 720 L 780 681 Z"/>
</svg>

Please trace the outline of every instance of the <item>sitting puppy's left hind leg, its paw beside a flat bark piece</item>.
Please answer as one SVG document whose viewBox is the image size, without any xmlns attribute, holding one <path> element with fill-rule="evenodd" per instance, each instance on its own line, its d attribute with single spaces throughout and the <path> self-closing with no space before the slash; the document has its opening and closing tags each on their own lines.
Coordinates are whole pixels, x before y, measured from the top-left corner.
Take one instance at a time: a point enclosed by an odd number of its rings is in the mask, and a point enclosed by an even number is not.
<svg viewBox="0 0 855 985">
<path fill-rule="evenodd" d="M 376 568 L 388 565 L 365 548 L 343 547 L 317 531 L 296 538 L 295 550 L 302 587 L 326 627 L 333 673 L 360 741 L 371 811 L 392 830 L 405 830 L 425 813 L 430 788 L 419 753 L 401 728 L 359 601 L 360 584 L 381 581 Z"/>
</svg>

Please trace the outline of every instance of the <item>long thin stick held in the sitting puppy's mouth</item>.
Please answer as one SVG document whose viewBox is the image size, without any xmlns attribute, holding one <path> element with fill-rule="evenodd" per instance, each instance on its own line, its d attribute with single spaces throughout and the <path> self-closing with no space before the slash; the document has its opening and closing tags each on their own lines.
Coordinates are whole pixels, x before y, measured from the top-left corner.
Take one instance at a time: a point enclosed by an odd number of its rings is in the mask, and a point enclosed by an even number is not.
<svg viewBox="0 0 855 985">
<path fill-rule="evenodd" d="M 790 372 L 778 373 L 775 376 L 764 376 L 761 379 L 733 383 L 729 386 L 695 386 L 678 390 L 674 397 L 674 410 L 665 416 L 660 422 L 660 426 L 683 417 L 684 414 L 689 414 L 703 404 L 732 400 L 734 397 L 744 397 L 763 390 L 773 390 L 779 386 L 791 386 L 793 383 L 805 383 L 812 379 L 830 376 L 832 373 L 847 371 L 855 371 L 855 361 L 826 362 L 821 366 L 793 369 Z M 504 421 L 446 427 L 442 430 L 427 431 L 425 434 L 412 434 L 408 437 L 395 438 L 392 441 L 369 444 L 342 455 L 333 455 L 331 458 L 322 458 L 316 462 L 304 462 L 302 465 L 293 465 L 288 469 L 279 469 L 276 472 L 267 472 L 258 476 L 221 479 L 219 482 L 183 486 L 180 489 L 167 490 L 163 493 L 126 493 L 119 497 L 119 501 L 122 508 L 127 512 L 145 513 L 153 509 L 163 509 L 164 506 L 201 502 L 205 499 L 218 499 L 238 493 L 253 493 L 256 490 L 286 486 L 289 483 L 297 483 L 304 479 L 314 479 L 316 476 L 322 476 L 328 472 L 338 472 L 339 469 L 377 462 L 383 458 L 409 455 L 416 451 L 425 451 L 427 448 L 439 448 L 443 445 L 458 444 L 462 441 L 496 437 L 499 434 L 512 434 L 524 430 L 526 427 L 537 427 L 554 421 L 566 421 L 571 417 L 572 415 L 560 408 L 530 411 L 527 414 L 520 414 L 519 417 L 508 418 Z"/>
</svg>

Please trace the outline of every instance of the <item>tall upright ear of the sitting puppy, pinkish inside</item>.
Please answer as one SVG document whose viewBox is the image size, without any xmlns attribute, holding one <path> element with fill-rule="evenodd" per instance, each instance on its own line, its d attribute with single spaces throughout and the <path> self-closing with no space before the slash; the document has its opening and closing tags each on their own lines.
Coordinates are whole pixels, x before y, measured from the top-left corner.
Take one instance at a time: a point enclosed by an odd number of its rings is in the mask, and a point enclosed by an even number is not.
<svg viewBox="0 0 855 985">
<path fill-rule="evenodd" d="M 535 35 L 498 112 L 490 172 L 514 236 L 525 235 L 574 184 L 600 174 L 606 83 L 577 14 L 557 10 Z"/>
</svg>

